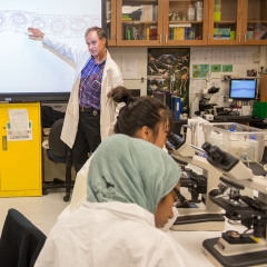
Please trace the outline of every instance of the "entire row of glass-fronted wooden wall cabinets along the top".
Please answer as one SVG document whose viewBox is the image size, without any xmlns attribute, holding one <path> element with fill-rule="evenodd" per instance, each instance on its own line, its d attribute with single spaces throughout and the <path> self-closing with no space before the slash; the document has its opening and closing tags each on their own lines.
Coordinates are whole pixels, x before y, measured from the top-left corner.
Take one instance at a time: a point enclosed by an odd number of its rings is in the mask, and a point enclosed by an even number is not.
<svg viewBox="0 0 267 267">
<path fill-rule="evenodd" d="M 267 44 L 267 0 L 106 0 L 103 8 L 109 46 Z"/>
</svg>

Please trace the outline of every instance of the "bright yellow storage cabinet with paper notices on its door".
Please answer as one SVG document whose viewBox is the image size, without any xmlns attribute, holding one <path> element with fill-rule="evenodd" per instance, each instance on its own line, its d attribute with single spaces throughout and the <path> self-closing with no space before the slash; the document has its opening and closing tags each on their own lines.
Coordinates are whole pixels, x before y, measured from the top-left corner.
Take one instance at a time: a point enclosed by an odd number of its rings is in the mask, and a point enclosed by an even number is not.
<svg viewBox="0 0 267 267">
<path fill-rule="evenodd" d="M 31 140 L 27 136 L 8 140 L 11 109 L 28 111 Z M 0 197 L 41 196 L 40 103 L 0 103 Z"/>
</svg>

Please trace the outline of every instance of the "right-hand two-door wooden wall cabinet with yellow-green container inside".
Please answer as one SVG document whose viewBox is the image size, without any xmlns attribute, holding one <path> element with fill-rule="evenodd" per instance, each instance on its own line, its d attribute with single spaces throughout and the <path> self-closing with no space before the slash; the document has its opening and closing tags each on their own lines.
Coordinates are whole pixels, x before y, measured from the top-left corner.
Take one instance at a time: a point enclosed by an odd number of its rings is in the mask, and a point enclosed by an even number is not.
<svg viewBox="0 0 267 267">
<path fill-rule="evenodd" d="M 267 44 L 267 0 L 209 0 L 210 44 Z"/>
</svg>

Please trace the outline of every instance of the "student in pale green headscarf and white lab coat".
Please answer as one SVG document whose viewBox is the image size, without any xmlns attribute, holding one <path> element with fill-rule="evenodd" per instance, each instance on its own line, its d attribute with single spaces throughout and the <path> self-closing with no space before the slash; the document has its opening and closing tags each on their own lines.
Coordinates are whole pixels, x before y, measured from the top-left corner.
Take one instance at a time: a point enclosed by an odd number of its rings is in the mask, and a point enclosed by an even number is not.
<svg viewBox="0 0 267 267">
<path fill-rule="evenodd" d="M 148 141 L 113 135 L 95 151 L 87 201 L 58 219 L 36 267 L 197 266 L 157 229 L 172 217 L 175 160 Z"/>
</svg>

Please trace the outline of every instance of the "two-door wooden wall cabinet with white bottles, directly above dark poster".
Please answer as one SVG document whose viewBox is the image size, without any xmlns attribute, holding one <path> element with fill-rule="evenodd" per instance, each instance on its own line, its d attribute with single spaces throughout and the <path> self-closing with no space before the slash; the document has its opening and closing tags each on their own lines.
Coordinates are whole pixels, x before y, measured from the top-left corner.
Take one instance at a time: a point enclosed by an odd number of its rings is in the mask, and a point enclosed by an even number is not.
<svg viewBox="0 0 267 267">
<path fill-rule="evenodd" d="M 118 0 L 117 46 L 207 44 L 208 1 Z"/>
</svg>

